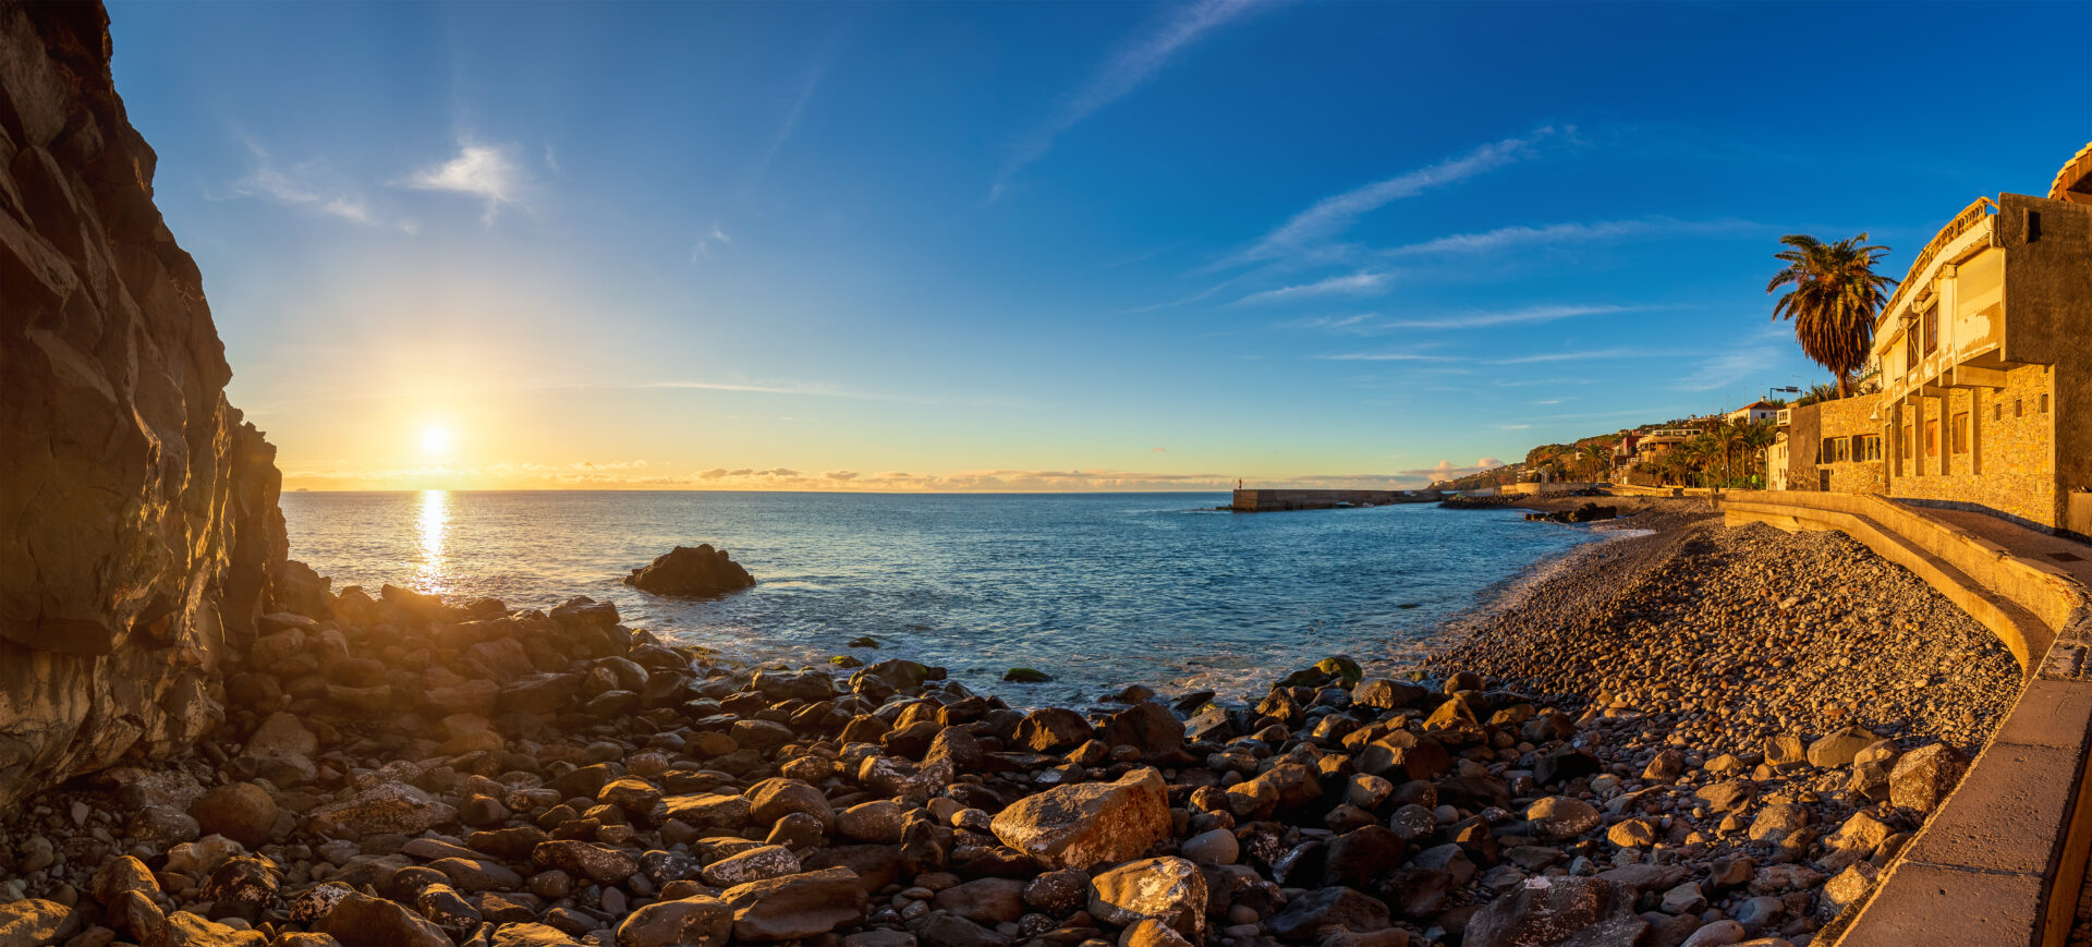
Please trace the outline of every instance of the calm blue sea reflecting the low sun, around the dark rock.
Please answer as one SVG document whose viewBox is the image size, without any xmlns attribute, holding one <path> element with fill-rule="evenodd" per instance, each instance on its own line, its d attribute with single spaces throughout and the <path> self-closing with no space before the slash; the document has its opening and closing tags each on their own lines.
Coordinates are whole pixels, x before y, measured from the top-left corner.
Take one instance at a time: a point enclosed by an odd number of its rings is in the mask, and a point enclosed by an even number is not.
<svg viewBox="0 0 2092 947">
<path fill-rule="evenodd" d="M 285 493 L 291 556 L 335 587 L 548 608 L 747 661 L 910 656 L 1010 700 L 1125 684 L 1224 694 L 1328 654 L 1395 659 L 1536 562 L 1594 539 L 1433 504 L 1230 514 L 1226 493 Z M 757 579 L 720 600 L 619 579 L 709 541 Z M 872 636 L 879 652 L 851 650 Z M 1052 684 L 1000 684 L 1036 667 Z"/>
</svg>

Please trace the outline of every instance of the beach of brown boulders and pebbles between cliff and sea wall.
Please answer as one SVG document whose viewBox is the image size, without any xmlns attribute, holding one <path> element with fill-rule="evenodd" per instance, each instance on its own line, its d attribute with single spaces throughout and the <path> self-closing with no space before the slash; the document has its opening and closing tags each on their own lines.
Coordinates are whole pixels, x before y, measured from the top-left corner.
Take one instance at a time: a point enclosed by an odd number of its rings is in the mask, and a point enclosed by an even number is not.
<svg viewBox="0 0 2092 947">
<path fill-rule="evenodd" d="M 1607 502 L 1623 518 L 1596 529 L 1617 537 L 1414 663 L 1274 667 L 1253 705 L 1155 682 L 1027 709 L 877 648 L 854 669 L 720 663 L 607 602 L 308 590 L 226 677 L 211 740 L 0 828 L 0 930 L 1828 943 L 2019 667 L 1843 535 Z"/>
</svg>

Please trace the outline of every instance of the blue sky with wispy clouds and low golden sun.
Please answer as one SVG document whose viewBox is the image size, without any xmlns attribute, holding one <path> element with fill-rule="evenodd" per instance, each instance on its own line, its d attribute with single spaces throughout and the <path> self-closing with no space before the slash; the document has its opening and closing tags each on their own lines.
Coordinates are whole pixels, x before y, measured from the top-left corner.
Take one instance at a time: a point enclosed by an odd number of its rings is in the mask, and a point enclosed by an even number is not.
<svg viewBox="0 0 2092 947">
<path fill-rule="evenodd" d="M 1418 487 L 2092 130 L 2069 4 L 109 6 L 285 489 Z"/>
</svg>

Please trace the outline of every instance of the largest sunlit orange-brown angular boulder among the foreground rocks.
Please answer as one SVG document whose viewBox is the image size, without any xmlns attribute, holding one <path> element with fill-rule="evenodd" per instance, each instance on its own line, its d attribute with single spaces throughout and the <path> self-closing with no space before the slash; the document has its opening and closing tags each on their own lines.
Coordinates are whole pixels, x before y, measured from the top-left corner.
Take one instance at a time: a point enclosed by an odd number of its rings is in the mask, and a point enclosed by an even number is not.
<svg viewBox="0 0 2092 947">
<path fill-rule="evenodd" d="M 1169 790 L 1149 767 L 1119 782 L 1054 786 L 1002 809 L 990 830 L 1050 868 L 1132 861 L 1169 834 Z"/>
</svg>

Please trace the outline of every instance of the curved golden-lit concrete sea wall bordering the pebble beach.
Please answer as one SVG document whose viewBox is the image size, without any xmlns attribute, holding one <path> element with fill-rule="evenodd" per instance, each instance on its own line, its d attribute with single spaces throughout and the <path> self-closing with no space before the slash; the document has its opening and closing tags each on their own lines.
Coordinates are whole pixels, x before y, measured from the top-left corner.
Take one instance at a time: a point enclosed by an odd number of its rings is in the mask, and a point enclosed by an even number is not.
<svg viewBox="0 0 2092 947">
<path fill-rule="evenodd" d="M 1724 493 L 1722 510 L 1732 525 L 1860 539 L 1989 627 L 2027 673 L 1989 746 L 1837 943 L 2065 943 L 2092 851 L 2086 587 L 1877 495 L 1745 491 Z"/>
</svg>

